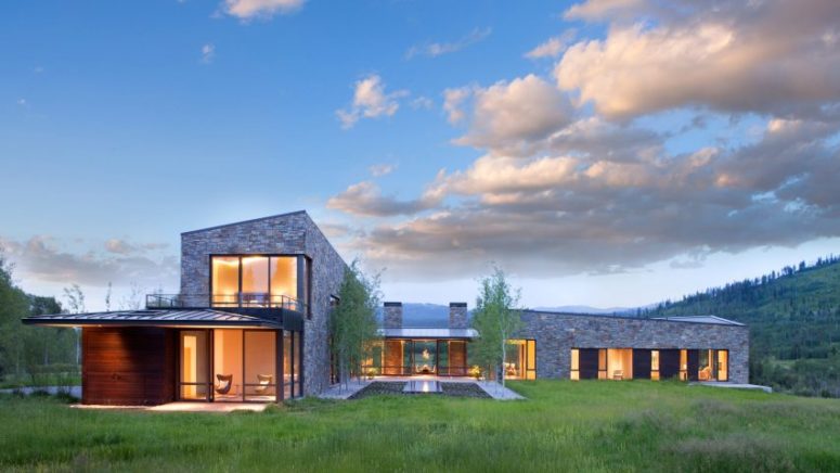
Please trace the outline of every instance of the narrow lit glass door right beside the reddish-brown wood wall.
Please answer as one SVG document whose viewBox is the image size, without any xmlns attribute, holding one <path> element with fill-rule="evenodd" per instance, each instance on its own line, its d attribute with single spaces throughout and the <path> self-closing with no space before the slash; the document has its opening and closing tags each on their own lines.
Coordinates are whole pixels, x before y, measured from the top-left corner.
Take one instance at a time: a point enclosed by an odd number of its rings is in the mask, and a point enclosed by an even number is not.
<svg viewBox="0 0 840 473">
<path fill-rule="evenodd" d="M 178 340 L 178 397 L 210 400 L 210 331 L 182 330 Z"/>
</svg>

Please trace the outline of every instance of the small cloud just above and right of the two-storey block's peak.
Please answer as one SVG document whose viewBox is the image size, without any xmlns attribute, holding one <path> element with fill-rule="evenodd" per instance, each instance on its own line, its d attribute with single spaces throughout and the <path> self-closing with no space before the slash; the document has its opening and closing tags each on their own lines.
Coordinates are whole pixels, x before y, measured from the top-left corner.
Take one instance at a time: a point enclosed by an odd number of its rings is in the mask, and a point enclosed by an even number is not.
<svg viewBox="0 0 840 473">
<path fill-rule="evenodd" d="M 411 201 L 400 201 L 395 196 L 384 195 L 379 187 L 372 181 L 352 184 L 326 202 L 328 208 L 369 217 L 413 215 L 438 204 L 439 201 L 430 195 Z"/>
</svg>

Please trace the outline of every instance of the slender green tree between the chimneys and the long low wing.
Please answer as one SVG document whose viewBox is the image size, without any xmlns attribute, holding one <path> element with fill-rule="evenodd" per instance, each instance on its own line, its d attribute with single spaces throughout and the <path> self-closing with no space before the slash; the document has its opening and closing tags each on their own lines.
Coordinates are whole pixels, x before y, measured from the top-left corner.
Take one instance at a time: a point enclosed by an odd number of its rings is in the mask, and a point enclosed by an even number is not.
<svg viewBox="0 0 840 473">
<path fill-rule="evenodd" d="M 496 373 L 496 379 L 504 386 L 502 367 L 507 355 L 507 341 L 524 327 L 519 308 L 521 291 L 512 287 L 505 272 L 497 267 L 479 284 L 479 296 L 473 312 L 473 328 L 478 331 L 478 338 L 470 346 L 470 356 L 487 372 Z"/>
</svg>

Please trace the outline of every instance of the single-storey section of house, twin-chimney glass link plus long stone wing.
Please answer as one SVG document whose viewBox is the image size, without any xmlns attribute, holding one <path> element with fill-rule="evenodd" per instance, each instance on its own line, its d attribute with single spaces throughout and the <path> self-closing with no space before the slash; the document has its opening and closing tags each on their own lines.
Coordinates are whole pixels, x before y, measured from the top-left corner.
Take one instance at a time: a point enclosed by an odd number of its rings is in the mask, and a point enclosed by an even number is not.
<svg viewBox="0 0 840 473">
<path fill-rule="evenodd" d="M 372 374 L 465 375 L 473 368 L 464 303 L 450 304 L 448 328 L 403 327 L 401 303 L 385 303 L 383 341 Z M 749 380 L 749 331 L 720 317 L 635 317 L 524 310 L 509 340 L 505 378 L 722 381 Z"/>
</svg>

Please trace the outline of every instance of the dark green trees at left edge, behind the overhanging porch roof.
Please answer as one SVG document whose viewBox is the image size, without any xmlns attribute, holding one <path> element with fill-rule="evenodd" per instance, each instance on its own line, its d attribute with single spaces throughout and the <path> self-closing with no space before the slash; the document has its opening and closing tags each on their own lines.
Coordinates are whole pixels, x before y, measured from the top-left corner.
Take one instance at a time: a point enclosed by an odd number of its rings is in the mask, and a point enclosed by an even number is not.
<svg viewBox="0 0 840 473">
<path fill-rule="evenodd" d="M 29 315 L 56 314 L 54 297 L 26 294 L 15 286 L 12 269 L 0 252 L 0 381 L 2 385 L 41 384 L 77 372 L 77 334 L 68 329 L 28 327 Z"/>
</svg>

